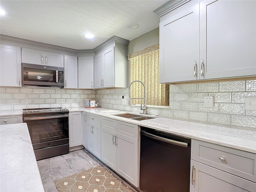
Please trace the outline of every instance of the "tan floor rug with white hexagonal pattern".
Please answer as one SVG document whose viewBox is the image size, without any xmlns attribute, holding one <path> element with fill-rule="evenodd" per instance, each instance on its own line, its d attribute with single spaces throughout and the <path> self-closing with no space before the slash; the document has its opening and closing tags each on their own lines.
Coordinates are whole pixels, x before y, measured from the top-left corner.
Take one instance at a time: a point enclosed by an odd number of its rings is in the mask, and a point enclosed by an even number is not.
<svg viewBox="0 0 256 192">
<path fill-rule="evenodd" d="M 134 192 L 100 165 L 54 183 L 58 192 Z"/>
</svg>

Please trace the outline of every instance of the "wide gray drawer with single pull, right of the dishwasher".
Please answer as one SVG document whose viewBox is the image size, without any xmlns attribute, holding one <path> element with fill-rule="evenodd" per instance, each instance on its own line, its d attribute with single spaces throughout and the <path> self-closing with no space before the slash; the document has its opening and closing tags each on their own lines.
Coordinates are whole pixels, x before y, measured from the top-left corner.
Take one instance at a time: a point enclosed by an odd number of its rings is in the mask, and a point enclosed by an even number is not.
<svg viewBox="0 0 256 192">
<path fill-rule="evenodd" d="M 192 140 L 191 159 L 256 182 L 256 154 Z"/>
</svg>

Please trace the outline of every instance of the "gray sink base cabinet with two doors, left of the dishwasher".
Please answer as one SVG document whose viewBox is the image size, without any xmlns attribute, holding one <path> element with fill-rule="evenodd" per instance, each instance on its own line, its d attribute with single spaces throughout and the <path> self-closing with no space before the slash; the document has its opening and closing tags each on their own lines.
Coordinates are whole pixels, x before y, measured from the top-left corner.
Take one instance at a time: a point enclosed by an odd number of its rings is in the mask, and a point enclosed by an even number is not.
<svg viewBox="0 0 256 192">
<path fill-rule="evenodd" d="M 138 126 L 102 117 L 101 160 L 131 184 L 138 187 Z M 122 131 L 122 134 L 120 133 Z M 128 133 L 129 132 L 129 133 Z M 133 130 L 132 130 L 133 132 Z M 127 134 L 127 135 L 126 135 Z"/>
</svg>

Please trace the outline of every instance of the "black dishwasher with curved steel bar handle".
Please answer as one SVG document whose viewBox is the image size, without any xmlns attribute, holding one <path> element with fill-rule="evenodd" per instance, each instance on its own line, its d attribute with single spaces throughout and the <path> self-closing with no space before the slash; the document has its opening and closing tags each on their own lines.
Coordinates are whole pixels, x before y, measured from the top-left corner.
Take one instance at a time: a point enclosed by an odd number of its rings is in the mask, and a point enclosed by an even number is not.
<svg viewBox="0 0 256 192">
<path fill-rule="evenodd" d="M 141 127 L 140 190 L 189 192 L 191 139 Z"/>
</svg>

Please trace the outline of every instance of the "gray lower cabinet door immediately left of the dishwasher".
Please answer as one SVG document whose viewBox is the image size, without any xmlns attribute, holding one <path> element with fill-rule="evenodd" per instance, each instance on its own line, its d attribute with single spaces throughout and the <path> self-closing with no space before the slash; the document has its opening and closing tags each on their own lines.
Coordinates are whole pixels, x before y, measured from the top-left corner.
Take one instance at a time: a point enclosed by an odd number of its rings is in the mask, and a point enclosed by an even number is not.
<svg viewBox="0 0 256 192">
<path fill-rule="evenodd" d="M 116 172 L 138 187 L 138 140 L 116 134 Z"/>
</svg>

